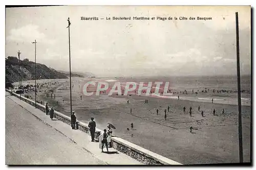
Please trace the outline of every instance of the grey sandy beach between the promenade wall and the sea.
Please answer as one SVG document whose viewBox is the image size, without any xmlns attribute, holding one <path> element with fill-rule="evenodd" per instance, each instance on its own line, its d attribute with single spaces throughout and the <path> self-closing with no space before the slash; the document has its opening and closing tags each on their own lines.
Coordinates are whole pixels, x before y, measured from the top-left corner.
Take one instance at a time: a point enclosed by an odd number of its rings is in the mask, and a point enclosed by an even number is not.
<svg viewBox="0 0 256 170">
<path fill-rule="evenodd" d="M 56 86 L 59 87 L 55 87 L 55 100 L 46 98 L 44 92 L 38 93 L 38 100 L 47 101 L 55 110 L 70 115 L 69 81 L 63 80 Z M 89 121 L 93 116 L 99 129 L 105 129 L 110 122 L 116 127 L 114 135 L 182 164 L 239 162 L 237 105 L 137 95 L 82 95 L 81 101 L 80 88 L 76 84 L 72 89 L 72 107 L 77 119 L 82 122 Z M 147 104 L 145 99 L 148 100 Z M 170 112 L 167 112 L 167 120 L 164 120 L 164 109 L 167 110 L 168 106 Z M 182 109 L 184 106 L 185 113 Z M 193 117 L 189 117 L 190 106 Z M 198 106 L 204 111 L 204 117 L 198 111 Z M 157 108 L 159 115 L 156 114 Z M 221 114 L 223 108 L 224 115 Z M 213 109 L 216 110 L 215 116 Z M 250 106 L 242 106 L 245 162 L 250 161 L 250 110 Z M 132 122 L 134 130 L 127 131 Z M 198 130 L 189 133 L 190 126 Z"/>
</svg>

